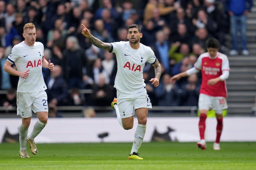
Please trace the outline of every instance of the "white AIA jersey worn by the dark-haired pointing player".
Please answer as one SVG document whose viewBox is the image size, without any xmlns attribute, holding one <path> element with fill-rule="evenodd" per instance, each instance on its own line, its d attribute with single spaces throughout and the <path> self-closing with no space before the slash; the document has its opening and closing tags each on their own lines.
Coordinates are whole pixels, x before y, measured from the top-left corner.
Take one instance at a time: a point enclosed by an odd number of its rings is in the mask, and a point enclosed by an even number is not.
<svg viewBox="0 0 256 170">
<path fill-rule="evenodd" d="M 156 62 L 153 50 L 140 43 L 138 49 L 133 49 L 129 42 L 110 43 L 116 54 L 117 73 L 114 87 L 122 93 L 135 94 L 145 88 L 143 79 L 143 68 L 148 61 L 151 64 Z"/>
</svg>

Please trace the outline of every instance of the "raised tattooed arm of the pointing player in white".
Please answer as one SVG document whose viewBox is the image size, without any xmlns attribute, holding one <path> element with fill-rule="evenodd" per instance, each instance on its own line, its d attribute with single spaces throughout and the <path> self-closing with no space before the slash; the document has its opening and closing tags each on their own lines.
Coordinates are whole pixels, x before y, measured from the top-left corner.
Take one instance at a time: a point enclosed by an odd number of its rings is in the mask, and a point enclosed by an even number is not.
<svg viewBox="0 0 256 170">
<path fill-rule="evenodd" d="M 81 24 L 81 25 L 83 27 L 82 35 L 84 37 L 88 38 L 93 45 L 95 45 L 99 48 L 102 48 L 102 49 L 106 49 L 108 51 L 111 50 L 112 47 L 111 47 L 110 43 L 102 42 L 101 40 L 97 39 L 90 33 L 90 31 L 83 24 Z"/>
</svg>

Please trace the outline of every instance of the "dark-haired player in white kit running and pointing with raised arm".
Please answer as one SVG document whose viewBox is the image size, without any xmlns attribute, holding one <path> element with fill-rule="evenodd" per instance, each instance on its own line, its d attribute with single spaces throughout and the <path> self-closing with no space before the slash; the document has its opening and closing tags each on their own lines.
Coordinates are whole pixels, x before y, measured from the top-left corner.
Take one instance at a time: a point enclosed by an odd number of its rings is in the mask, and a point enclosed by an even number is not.
<svg viewBox="0 0 256 170">
<path fill-rule="evenodd" d="M 118 122 L 126 130 L 133 128 L 133 115 L 136 114 L 138 126 L 128 159 L 143 159 L 139 157 L 138 149 L 146 132 L 148 109 L 152 108 L 152 105 L 145 89 L 142 72 L 145 63 L 151 63 L 155 68 L 155 77 L 150 82 L 157 87 L 162 72 L 160 63 L 153 50 L 140 43 L 142 33 L 136 24 L 128 27 L 127 39 L 129 41 L 113 43 L 100 41 L 91 35 L 83 24 L 82 26 L 84 37 L 87 37 L 95 46 L 116 54 L 117 74 L 114 87 L 117 90 L 118 103 L 115 98 L 111 106 L 116 111 Z"/>
</svg>

